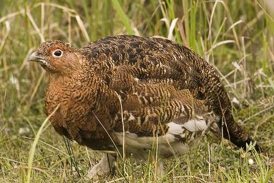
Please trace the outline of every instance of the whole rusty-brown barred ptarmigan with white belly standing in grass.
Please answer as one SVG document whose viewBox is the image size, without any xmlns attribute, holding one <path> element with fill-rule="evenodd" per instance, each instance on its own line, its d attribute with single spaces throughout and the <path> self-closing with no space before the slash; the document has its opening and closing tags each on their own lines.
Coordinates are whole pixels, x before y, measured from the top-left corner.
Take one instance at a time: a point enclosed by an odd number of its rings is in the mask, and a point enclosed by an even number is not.
<svg viewBox="0 0 274 183">
<path fill-rule="evenodd" d="M 29 60 L 49 73 L 45 112 L 59 105 L 50 118 L 56 132 L 91 149 L 146 159 L 157 141 L 166 158 L 191 149 L 207 130 L 243 149 L 253 141 L 234 121 L 216 71 L 177 42 L 109 36 L 75 49 L 53 40 Z M 88 177 L 110 173 L 114 160 L 103 154 Z"/>
</svg>

